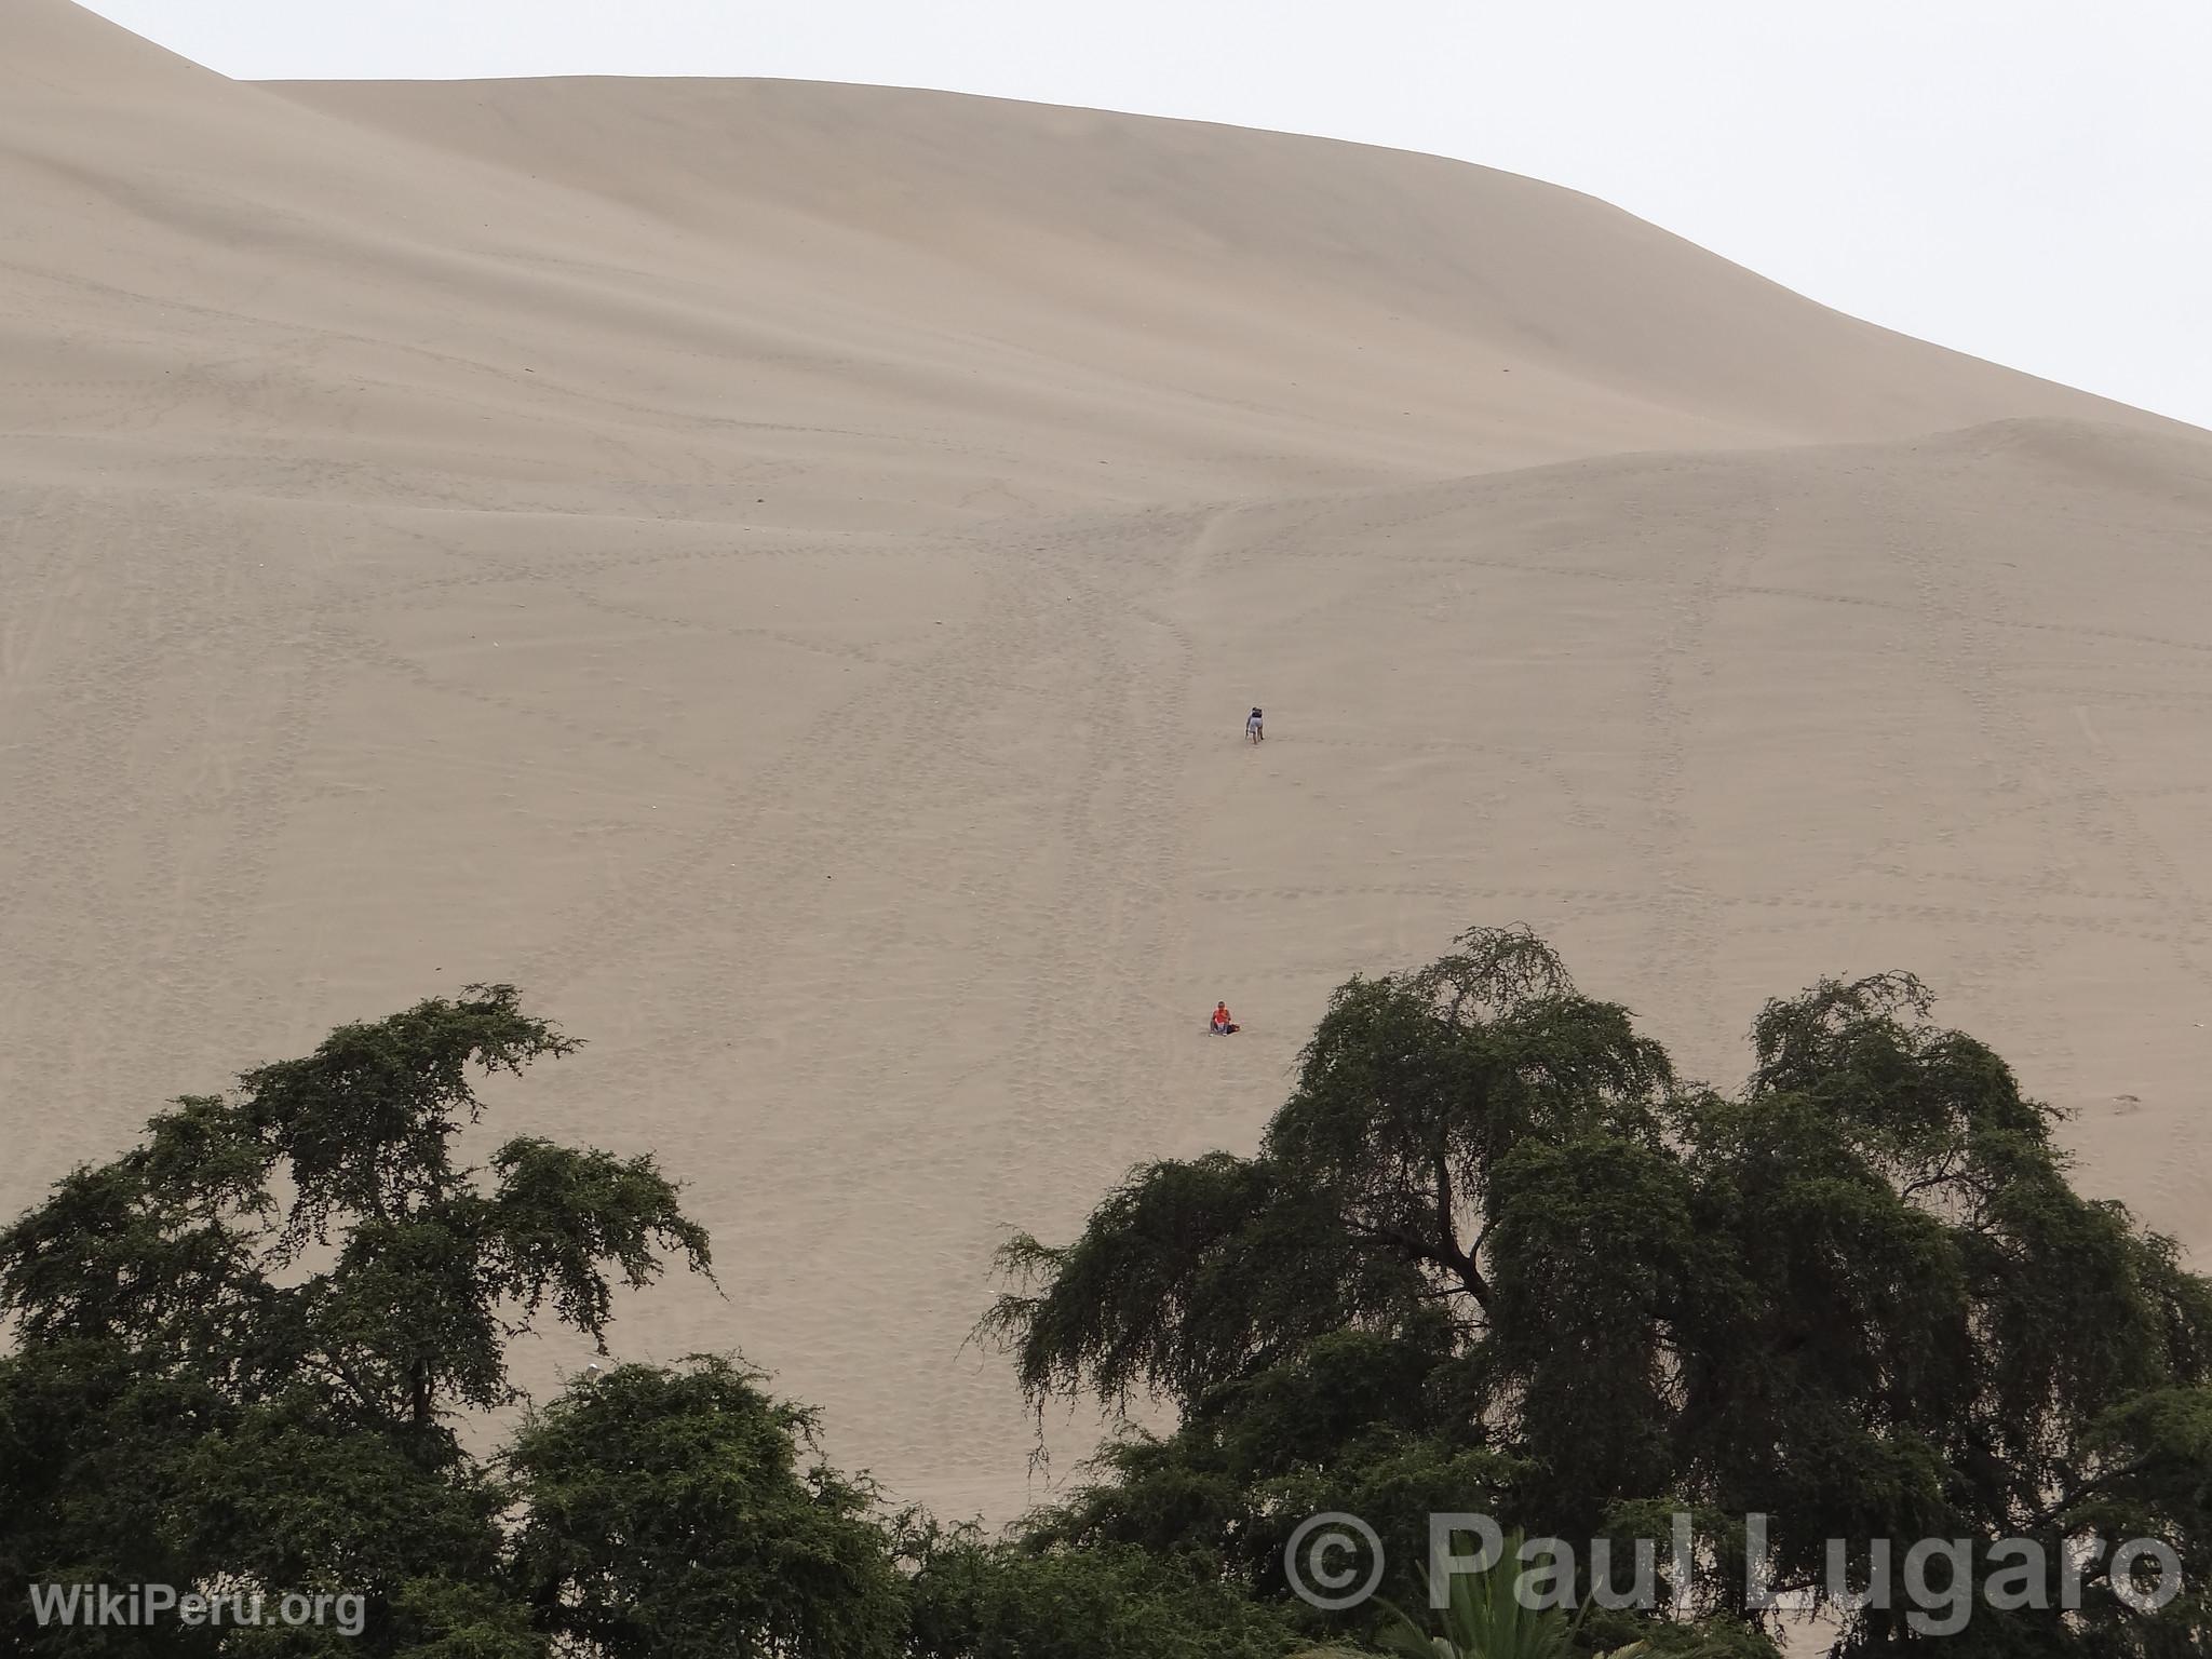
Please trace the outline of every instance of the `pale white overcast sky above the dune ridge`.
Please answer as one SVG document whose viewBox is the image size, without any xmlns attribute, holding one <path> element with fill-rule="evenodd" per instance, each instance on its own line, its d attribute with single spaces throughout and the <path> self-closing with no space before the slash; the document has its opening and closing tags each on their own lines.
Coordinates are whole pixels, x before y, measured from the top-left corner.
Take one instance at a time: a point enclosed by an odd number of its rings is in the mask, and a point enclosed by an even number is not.
<svg viewBox="0 0 2212 1659">
<path fill-rule="evenodd" d="M 1436 150 L 2212 427 L 2212 0 L 93 0 L 237 77 L 776 75 Z"/>
</svg>

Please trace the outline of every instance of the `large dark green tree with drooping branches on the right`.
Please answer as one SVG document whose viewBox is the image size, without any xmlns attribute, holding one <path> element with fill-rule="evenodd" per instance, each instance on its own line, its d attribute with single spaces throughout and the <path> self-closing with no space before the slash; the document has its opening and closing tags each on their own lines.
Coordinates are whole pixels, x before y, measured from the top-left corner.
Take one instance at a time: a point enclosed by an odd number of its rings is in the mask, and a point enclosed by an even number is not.
<svg viewBox="0 0 2212 1659">
<path fill-rule="evenodd" d="M 1818 1593 L 1829 1537 L 2057 1544 L 2119 1504 L 2194 1568 L 2212 1292 L 1929 1013 L 1907 975 L 1770 1002 L 1721 1093 L 1524 929 L 1352 980 L 1256 1157 L 1141 1168 L 1073 1243 L 1006 1245 L 987 1329 L 1040 1409 L 1146 1391 L 1181 1422 L 1046 1528 L 1272 1593 L 1303 1504 L 1380 1528 L 1352 1498 L 1458 1484 L 1433 1506 L 1557 1537 L 1770 1515 L 1776 1588 Z M 1741 1575 L 1703 1588 L 1756 1615 Z M 2108 1590 L 1975 1628 L 2075 1655 L 2183 1630 Z M 1907 1639 L 1867 1610 L 1843 1650 Z"/>
</svg>

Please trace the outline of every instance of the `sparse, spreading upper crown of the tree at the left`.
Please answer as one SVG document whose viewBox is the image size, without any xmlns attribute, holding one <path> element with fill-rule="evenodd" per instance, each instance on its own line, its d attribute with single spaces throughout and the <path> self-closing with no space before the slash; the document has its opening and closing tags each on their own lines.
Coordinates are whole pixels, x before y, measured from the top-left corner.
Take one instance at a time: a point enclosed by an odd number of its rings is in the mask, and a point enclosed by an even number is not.
<svg viewBox="0 0 2212 1659">
<path fill-rule="evenodd" d="M 599 1340 L 611 1272 L 708 1267 L 650 1157 L 518 1139 L 489 1190 L 453 1161 L 484 1113 L 471 1071 L 575 1046 L 504 984 L 341 1026 L 69 1175 L 0 1232 L 0 1310 L 29 1352 L 122 1343 L 239 1400 L 305 1383 L 372 1427 L 436 1436 L 456 1407 L 509 1405 L 507 1340 L 544 1303 Z"/>
</svg>

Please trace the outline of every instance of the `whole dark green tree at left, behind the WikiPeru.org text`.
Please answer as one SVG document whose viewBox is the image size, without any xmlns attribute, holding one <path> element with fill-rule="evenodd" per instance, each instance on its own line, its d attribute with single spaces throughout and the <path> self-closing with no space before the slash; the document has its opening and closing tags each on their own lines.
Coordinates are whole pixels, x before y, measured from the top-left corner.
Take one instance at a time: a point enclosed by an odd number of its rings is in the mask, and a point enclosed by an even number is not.
<svg viewBox="0 0 2212 1659">
<path fill-rule="evenodd" d="M 0 1232 L 11 1650 L 332 1639 L 40 1630 L 27 1586 L 80 1579 L 365 1593 L 347 1652 L 544 1650 L 495 1582 L 511 1495 L 456 1416 L 515 1400 L 507 1343 L 544 1312 L 602 1340 L 613 1279 L 644 1285 L 670 1252 L 708 1270 L 653 1159 L 515 1139 L 489 1170 L 456 1161 L 473 1077 L 571 1048 L 511 987 L 343 1026 L 177 1102 Z"/>
</svg>

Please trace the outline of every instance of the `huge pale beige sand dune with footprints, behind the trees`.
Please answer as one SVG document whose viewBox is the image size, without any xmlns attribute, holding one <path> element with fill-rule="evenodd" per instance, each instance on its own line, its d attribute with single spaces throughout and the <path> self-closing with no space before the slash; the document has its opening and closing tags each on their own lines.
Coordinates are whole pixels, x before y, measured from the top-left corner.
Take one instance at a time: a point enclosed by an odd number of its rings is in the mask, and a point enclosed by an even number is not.
<svg viewBox="0 0 2212 1659">
<path fill-rule="evenodd" d="M 60 0 L 0 0 L 0 204 L 4 1208 L 518 980 L 593 1046 L 513 1121 L 719 1243 L 624 1352 L 1004 1513 L 1002 1228 L 1524 918 L 1721 1077 L 1911 967 L 2212 1245 L 2203 434 L 1427 157 L 254 88 Z"/>
</svg>

